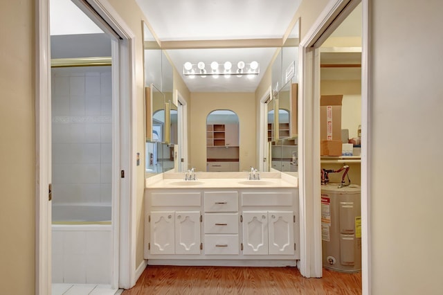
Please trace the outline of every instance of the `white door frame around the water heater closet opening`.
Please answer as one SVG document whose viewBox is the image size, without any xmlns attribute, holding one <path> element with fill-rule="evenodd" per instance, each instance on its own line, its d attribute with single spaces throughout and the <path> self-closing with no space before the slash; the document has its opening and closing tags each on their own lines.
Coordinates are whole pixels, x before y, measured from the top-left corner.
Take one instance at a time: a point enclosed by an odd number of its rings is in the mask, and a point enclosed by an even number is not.
<svg viewBox="0 0 443 295">
<path fill-rule="evenodd" d="M 300 177 L 300 273 L 323 274 L 320 213 L 320 57 L 319 46 L 341 21 L 362 3 L 361 62 L 361 231 L 362 290 L 370 294 L 370 57 L 369 0 L 329 0 L 325 9 L 300 42 L 300 93 L 298 145 Z"/>
</svg>

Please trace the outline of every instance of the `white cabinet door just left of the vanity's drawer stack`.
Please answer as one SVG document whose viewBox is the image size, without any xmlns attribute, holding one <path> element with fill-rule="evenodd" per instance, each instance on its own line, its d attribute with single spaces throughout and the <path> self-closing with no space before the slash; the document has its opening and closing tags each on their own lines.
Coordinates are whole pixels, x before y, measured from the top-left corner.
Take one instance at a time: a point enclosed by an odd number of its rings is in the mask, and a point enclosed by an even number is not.
<svg viewBox="0 0 443 295">
<path fill-rule="evenodd" d="M 200 211 L 175 212 L 175 253 L 200 253 Z"/>
</svg>

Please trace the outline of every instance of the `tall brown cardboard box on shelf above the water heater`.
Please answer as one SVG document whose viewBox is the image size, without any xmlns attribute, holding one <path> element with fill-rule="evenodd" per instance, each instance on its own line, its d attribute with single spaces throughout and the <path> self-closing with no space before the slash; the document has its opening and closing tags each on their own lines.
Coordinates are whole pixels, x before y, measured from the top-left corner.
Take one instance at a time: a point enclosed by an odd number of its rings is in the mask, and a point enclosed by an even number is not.
<svg viewBox="0 0 443 295">
<path fill-rule="evenodd" d="M 343 95 L 320 97 L 320 140 L 341 141 L 342 100 Z"/>
</svg>

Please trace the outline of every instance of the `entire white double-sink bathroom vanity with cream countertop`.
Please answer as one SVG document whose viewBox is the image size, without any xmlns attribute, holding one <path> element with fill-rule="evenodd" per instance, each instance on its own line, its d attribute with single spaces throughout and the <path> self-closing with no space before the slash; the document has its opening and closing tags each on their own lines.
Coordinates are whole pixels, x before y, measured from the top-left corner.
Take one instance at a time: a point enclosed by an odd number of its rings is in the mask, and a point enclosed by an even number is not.
<svg viewBox="0 0 443 295">
<path fill-rule="evenodd" d="M 183 173 L 147 179 L 149 265 L 295 266 L 300 259 L 298 179 L 263 172 Z M 179 178 L 180 177 L 180 178 Z"/>
</svg>

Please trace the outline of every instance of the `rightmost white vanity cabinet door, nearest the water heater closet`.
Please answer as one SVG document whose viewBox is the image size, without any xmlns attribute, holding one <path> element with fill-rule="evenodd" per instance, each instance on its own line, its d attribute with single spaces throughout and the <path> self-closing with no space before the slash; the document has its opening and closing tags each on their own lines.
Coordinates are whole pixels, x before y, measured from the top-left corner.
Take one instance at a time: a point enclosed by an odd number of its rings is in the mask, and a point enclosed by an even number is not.
<svg viewBox="0 0 443 295">
<path fill-rule="evenodd" d="M 293 255 L 293 212 L 269 211 L 269 254 Z"/>
</svg>

